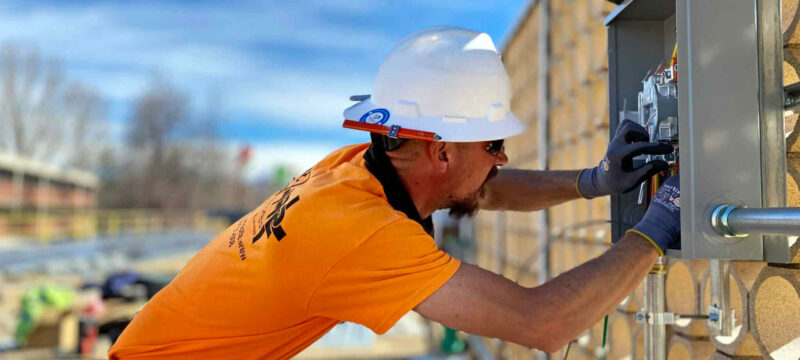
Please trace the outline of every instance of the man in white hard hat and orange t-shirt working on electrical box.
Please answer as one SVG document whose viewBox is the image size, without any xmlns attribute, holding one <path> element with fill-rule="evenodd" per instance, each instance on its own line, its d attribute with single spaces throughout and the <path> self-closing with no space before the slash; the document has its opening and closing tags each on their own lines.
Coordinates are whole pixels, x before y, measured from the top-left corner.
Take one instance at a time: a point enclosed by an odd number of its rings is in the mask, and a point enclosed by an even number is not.
<svg viewBox="0 0 800 360">
<path fill-rule="evenodd" d="M 633 169 L 634 156 L 672 151 L 628 121 L 596 168 L 498 171 L 508 161 L 502 139 L 524 127 L 486 34 L 438 27 L 407 36 L 360 100 L 345 110 L 345 127 L 370 131 L 372 144 L 333 152 L 212 240 L 136 316 L 111 358 L 285 359 L 342 321 L 382 334 L 412 309 L 555 351 L 612 311 L 678 237 L 673 178 L 611 250 L 535 288 L 436 248 L 434 210 L 532 211 L 622 192 L 666 165 Z"/>
</svg>

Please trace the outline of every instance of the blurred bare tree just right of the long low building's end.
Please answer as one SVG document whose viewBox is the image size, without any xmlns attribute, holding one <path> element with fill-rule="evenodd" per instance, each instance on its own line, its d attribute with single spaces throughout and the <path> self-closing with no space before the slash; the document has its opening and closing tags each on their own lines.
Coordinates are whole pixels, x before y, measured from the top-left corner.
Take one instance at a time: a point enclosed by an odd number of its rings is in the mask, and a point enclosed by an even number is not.
<svg viewBox="0 0 800 360">
<path fill-rule="evenodd" d="M 166 211 L 223 207 L 230 172 L 216 136 L 218 121 L 215 105 L 193 115 L 187 94 L 154 78 L 133 104 L 128 148 L 104 188 L 103 205 Z"/>
</svg>

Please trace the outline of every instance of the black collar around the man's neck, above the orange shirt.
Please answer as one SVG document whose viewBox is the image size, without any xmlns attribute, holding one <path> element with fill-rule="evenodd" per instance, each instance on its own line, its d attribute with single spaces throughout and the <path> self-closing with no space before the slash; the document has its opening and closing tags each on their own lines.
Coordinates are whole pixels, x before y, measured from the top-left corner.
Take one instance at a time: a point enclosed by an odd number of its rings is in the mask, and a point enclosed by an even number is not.
<svg viewBox="0 0 800 360">
<path fill-rule="evenodd" d="M 386 156 L 386 152 L 380 146 L 376 147 L 373 142 L 364 153 L 364 160 L 367 170 L 383 186 L 383 192 L 386 194 L 386 200 L 389 201 L 389 205 L 395 210 L 406 214 L 409 219 L 419 223 L 428 234 L 433 234 L 433 220 L 431 220 L 430 216 L 422 219 L 419 211 L 417 211 L 417 206 L 411 200 L 411 195 L 408 194 L 408 190 L 406 190 L 403 182 L 400 181 L 397 170 L 395 170 L 389 157 Z"/>
</svg>

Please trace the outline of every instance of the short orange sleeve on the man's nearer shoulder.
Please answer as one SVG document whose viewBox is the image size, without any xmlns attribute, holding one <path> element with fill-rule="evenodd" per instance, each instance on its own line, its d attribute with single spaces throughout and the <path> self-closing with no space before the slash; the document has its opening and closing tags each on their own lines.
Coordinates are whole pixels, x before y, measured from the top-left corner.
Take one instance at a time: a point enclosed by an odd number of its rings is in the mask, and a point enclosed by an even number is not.
<svg viewBox="0 0 800 360">
<path fill-rule="evenodd" d="M 444 285 L 460 264 L 419 224 L 398 220 L 331 267 L 316 286 L 308 312 L 383 334 Z"/>
</svg>

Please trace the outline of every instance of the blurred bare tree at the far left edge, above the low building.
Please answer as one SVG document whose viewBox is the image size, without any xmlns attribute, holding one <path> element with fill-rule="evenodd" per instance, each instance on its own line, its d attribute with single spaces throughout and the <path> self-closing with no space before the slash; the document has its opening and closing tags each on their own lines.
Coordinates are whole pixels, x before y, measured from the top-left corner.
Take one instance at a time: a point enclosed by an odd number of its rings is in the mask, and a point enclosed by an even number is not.
<svg viewBox="0 0 800 360">
<path fill-rule="evenodd" d="M 0 150 L 81 168 L 99 152 L 105 109 L 90 88 L 67 83 L 61 65 L 35 47 L 0 47 Z"/>
</svg>

